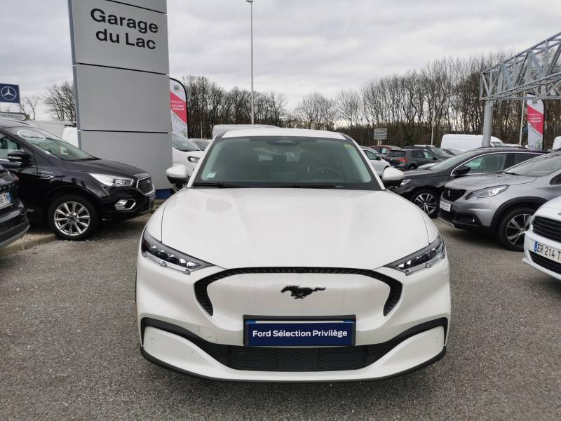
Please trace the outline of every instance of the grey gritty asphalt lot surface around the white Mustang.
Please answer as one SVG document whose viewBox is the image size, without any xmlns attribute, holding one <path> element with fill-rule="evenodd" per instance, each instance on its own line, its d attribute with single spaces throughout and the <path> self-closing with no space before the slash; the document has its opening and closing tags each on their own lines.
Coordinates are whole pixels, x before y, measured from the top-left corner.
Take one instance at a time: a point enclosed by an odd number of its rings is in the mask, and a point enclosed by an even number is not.
<svg viewBox="0 0 561 421">
<path fill-rule="evenodd" d="M 437 222 L 452 270 L 448 353 L 380 382 L 228 383 L 145 361 L 134 320 L 147 217 L 0 258 L 0 420 L 560 420 L 561 283 Z"/>
</svg>

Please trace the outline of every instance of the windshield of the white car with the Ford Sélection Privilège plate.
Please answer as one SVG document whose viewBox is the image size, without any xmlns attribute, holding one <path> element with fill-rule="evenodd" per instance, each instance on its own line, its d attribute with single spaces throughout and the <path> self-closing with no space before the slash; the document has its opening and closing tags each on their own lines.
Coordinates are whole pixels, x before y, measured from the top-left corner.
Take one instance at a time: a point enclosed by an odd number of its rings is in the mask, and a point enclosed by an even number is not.
<svg viewBox="0 0 561 421">
<path fill-rule="evenodd" d="M 380 189 L 350 140 L 296 136 L 218 138 L 193 186 Z"/>
</svg>

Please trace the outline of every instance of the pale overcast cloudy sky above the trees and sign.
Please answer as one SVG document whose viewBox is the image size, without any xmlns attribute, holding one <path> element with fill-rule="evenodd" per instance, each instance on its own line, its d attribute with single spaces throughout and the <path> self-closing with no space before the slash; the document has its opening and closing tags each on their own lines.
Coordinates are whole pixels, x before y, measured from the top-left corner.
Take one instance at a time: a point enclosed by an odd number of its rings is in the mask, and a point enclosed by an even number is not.
<svg viewBox="0 0 561 421">
<path fill-rule="evenodd" d="M 1 12 L 0 82 L 41 95 L 72 79 L 67 0 L 1 0 Z M 249 88 L 249 18 L 245 0 L 168 0 L 172 76 Z M 255 0 L 255 89 L 292 106 L 435 58 L 519 51 L 560 18 L 560 0 Z"/>
</svg>

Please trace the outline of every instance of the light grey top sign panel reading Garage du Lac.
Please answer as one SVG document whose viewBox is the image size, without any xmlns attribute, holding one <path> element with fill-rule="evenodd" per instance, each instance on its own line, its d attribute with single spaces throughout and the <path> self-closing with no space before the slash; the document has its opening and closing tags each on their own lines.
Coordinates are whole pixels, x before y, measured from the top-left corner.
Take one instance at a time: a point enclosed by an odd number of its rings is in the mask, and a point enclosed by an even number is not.
<svg viewBox="0 0 561 421">
<path fill-rule="evenodd" d="M 70 4 L 76 63 L 169 73 L 167 15 L 107 0 Z"/>
</svg>

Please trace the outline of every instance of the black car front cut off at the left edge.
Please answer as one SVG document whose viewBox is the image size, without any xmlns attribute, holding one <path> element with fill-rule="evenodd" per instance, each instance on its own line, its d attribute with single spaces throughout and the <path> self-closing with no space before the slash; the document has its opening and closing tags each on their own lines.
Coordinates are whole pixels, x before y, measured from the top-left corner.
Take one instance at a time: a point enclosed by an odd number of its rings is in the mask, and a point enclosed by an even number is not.
<svg viewBox="0 0 561 421">
<path fill-rule="evenodd" d="M 0 248 L 22 237 L 27 229 L 25 207 L 18 198 L 18 179 L 0 166 Z"/>
</svg>

